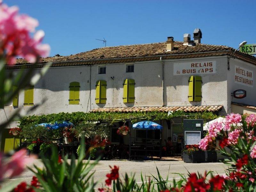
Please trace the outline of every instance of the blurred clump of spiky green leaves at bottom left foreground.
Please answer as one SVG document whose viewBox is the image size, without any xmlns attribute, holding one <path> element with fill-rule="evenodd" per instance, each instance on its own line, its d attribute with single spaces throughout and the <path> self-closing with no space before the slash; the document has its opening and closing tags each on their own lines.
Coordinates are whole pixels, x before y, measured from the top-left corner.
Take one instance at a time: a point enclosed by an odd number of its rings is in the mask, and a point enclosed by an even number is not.
<svg viewBox="0 0 256 192">
<path fill-rule="evenodd" d="M 37 188 L 36 191 L 45 192 L 91 192 L 94 191 L 96 182 L 93 180 L 94 172 L 91 172 L 93 167 L 98 163 L 98 160 L 90 163 L 83 162 L 85 156 L 84 139 L 81 141 L 81 150 L 76 161 L 72 155 L 70 161 L 68 157 L 62 155 L 62 162 L 59 162 L 57 148 L 52 146 L 52 156 L 46 159 L 41 156 L 44 168 L 41 169 L 34 165 L 34 168 L 29 168 L 30 171 L 36 174 L 42 188 Z"/>
</svg>

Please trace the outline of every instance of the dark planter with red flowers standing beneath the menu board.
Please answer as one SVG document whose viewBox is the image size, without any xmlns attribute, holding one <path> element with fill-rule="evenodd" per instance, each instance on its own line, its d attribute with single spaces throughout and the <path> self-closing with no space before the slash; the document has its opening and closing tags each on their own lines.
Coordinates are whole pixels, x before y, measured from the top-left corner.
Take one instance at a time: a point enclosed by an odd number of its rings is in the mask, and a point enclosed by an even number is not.
<svg viewBox="0 0 256 192">
<path fill-rule="evenodd" d="M 185 163 L 202 163 L 205 161 L 204 151 L 200 150 L 198 145 L 186 145 L 182 153 Z"/>
</svg>

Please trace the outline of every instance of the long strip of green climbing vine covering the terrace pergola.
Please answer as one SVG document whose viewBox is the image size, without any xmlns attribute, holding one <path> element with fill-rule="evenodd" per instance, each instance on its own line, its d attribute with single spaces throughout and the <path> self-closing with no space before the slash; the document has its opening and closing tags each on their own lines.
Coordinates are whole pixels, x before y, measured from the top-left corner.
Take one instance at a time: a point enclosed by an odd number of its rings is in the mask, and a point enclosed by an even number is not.
<svg viewBox="0 0 256 192">
<path fill-rule="evenodd" d="M 131 113 L 120 113 L 120 112 L 97 112 L 97 113 L 84 113 L 84 112 L 73 112 L 73 113 L 58 113 L 58 114 L 48 114 L 48 115 L 32 115 L 25 116 L 20 119 L 20 127 L 32 126 L 34 124 L 40 123 L 54 123 L 68 121 L 73 123 L 75 126 L 81 122 L 86 121 L 99 121 L 99 122 L 109 122 L 114 123 L 118 121 L 131 120 L 132 123 L 138 122 L 140 120 L 171 120 L 174 117 L 182 117 L 185 119 L 204 119 L 212 120 L 218 118 L 219 115 L 204 111 L 200 112 L 184 112 L 175 111 L 168 115 L 166 112 L 131 112 Z"/>
</svg>

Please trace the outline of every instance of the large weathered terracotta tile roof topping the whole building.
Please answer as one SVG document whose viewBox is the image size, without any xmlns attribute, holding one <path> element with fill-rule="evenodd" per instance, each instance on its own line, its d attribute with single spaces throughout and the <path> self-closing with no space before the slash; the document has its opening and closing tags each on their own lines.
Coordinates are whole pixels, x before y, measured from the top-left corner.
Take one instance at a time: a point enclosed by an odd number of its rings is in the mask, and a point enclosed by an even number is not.
<svg viewBox="0 0 256 192">
<path fill-rule="evenodd" d="M 195 46 L 183 45 L 183 42 L 175 41 L 174 50 L 166 52 L 166 42 L 152 44 L 122 45 L 116 47 L 103 47 L 87 52 L 81 52 L 69 56 L 54 56 L 42 58 L 41 63 L 53 62 L 53 67 L 68 65 L 90 65 L 100 63 L 132 62 L 139 60 L 180 59 L 220 56 L 232 54 L 234 49 L 224 45 L 196 44 Z M 199 54 L 198 54 L 199 53 Z M 255 62 L 255 57 L 236 52 L 236 57 L 247 59 L 247 62 Z M 241 59 L 240 58 L 240 59 Z M 17 59 L 17 65 L 26 64 L 24 59 Z M 17 66 L 16 65 L 16 66 Z M 15 67 L 15 66 L 14 66 Z"/>
</svg>

